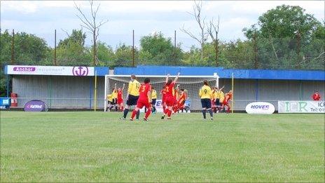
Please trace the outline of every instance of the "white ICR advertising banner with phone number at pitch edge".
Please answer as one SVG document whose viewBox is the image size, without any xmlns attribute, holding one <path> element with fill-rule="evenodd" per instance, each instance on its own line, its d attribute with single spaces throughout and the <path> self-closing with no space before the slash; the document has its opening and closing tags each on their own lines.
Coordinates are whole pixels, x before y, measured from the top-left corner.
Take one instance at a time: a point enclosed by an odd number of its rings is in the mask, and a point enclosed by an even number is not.
<svg viewBox="0 0 325 183">
<path fill-rule="evenodd" d="M 324 101 L 278 101 L 279 113 L 324 113 Z"/>
</svg>

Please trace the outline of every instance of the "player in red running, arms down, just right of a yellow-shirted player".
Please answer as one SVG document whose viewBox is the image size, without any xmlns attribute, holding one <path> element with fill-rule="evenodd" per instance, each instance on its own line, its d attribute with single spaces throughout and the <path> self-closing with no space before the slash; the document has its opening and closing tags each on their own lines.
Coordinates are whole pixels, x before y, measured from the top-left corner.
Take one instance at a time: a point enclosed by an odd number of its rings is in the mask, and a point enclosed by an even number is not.
<svg viewBox="0 0 325 183">
<path fill-rule="evenodd" d="M 137 114 L 139 109 L 146 107 L 146 116 L 144 116 L 144 121 L 148 121 L 148 116 L 151 114 L 151 85 L 150 79 L 144 79 L 144 83 L 140 86 L 140 95 L 137 102 L 137 107 L 132 111 L 132 116 L 130 118 L 133 121 L 134 116 Z"/>
</svg>

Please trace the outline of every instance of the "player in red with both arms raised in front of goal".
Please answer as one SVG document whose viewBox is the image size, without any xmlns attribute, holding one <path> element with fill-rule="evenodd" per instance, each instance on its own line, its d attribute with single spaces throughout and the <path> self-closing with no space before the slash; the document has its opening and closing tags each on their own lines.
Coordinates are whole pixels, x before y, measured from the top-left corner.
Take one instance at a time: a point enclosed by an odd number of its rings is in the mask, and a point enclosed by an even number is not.
<svg viewBox="0 0 325 183">
<path fill-rule="evenodd" d="M 161 116 L 161 119 L 164 119 L 165 115 L 168 116 L 167 119 L 171 119 L 170 116 L 172 116 L 172 107 L 174 106 L 173 90 L 174 90 L 175 83 L 177 82 L 177 79 L 179 79 L 179 74 L 180 73 L 177 74 L 174 81 L 172 81 L 172 79 L 168 79 L 170 74 L 167 74 L 166 84 L 165 84 L 165 92 L 166 92 L 166 98 L 165 98 L 166 101 L 165 102 L 166 102 L 167 108 L 165 109 L 163 116 Z"/>
</svg>

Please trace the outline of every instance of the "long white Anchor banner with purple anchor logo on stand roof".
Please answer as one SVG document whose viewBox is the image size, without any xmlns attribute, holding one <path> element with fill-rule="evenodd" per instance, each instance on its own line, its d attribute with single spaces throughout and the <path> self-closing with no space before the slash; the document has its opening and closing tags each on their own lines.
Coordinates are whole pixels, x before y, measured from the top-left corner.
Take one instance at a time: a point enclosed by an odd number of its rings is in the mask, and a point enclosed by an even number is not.
<svg viewBox="0 0 325 183">
<path fill-rule="evenodd" d="M 63 66 L 33 66 L 8 65 L 6 74 L 20 75 L 56 75 L 56 76 L 94 76 L 94 67 L 63 67 Z"/>
</svg>

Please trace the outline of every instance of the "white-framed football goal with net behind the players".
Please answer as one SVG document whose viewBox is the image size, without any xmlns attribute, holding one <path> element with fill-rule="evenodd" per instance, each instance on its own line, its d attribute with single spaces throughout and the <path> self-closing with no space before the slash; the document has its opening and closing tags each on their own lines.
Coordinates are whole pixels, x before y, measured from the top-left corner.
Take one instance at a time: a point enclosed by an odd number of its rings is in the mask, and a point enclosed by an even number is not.
<svg viewBox="0 0 325 183">
<path fill-rule="evenodd" d="M 137 75 L 137 81 L 143 83 L 146 77 L 150 78 L 151 86 L 153 86 L 153 88 L 157 91 L 157 103 L 155 107 L 157 108 L 157 111 L 161 111 L 162 96 L 160 95 L 160 91 L 163 90 L 166 76 Z M 175 77 L 176 76 L 170 76 L 170 79 L 174 79 Z M 179 84 L 179 88 L 184 88 L 188 90 L 187 104 L 189 105 L 189 109 L 191 109 L 192 111 L 200 110 L 202 108 L 198 93 L 200 88 L 203 86 L 203 81 L 205 79 L 209 82 L 209 86 L 219 87 L 219 76 L 216 73 L 214 73 L 213 76 L 179 76 L 177 84 Z M 115 84 L 117 88 L 123 88 L 123 83 L 125 84 L 125 88 L 123 90 L 123 100 L 124 103 L 126 102 L 127 86 L 129 85 L 130 80 L 131 80 L 130 75 L 106 75 L 105 76 L 104 111 L 106 111 L 107 108 L 106 96 L 113 92 L 113 88 Z"/>
</svg>

